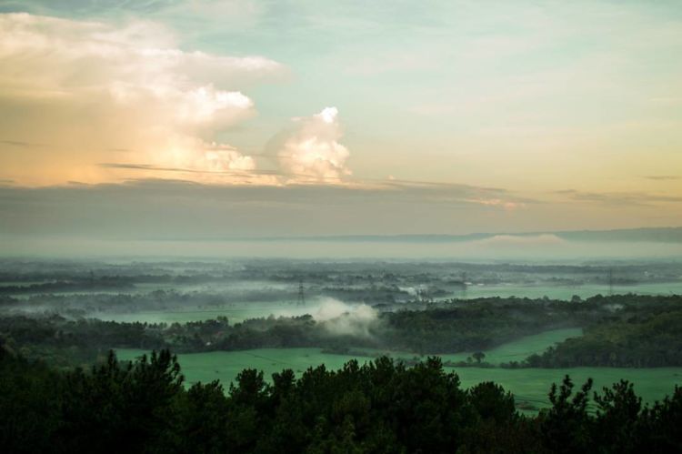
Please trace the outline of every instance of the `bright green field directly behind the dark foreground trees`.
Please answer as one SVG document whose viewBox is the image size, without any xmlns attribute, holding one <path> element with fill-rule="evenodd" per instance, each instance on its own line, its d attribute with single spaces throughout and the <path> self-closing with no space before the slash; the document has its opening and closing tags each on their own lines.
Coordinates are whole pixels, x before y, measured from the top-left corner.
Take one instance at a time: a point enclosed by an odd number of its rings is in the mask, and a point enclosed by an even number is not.
<svg viewBox="0 0 682 454">
<path fill-rule="evenodd" d="M 527 355 L 541 352 L 553 343 L 567 337 L 577 336 L 579 329 L 559 329 L 547 331 L 537 336 L 530 336 L 510 342 L 486 352 L 486 359 L 491 363 L 525 358 Z M 139 357 L 145 351 L 137 349 L 119 349 L 121 359 Z M 369 353 L 376 353 L 370 352 Z M 407 353 L 391 352 L 394 358 L 412 358 Z M 462 360 L 468 354 L 443 355 L 444 360 Z M 236 378 L 236 374 L 244 368 L 263 370 L 266 377 L 283 368 L 291 368 L 298 375 L 306 368 L 325 364 L 327 368 L 340 368 L 352 358 L 361 362 L 369 357 L 352 355 L 336 355 L 322 353 L 319 348 L 259 348 L 244 351 L 216 351 L 210 353 L 191 353 L 178 355 L 187 384 L 197 381 L 208 382 L 220 379 L 225 385 Z M 662 399 L 670 394 L 676 384 L 682 384 L 682 368 L 456 368 L 457 374 L 465 388 L 481 381 L 492 380 L 512 391 L 517 402 L 527 402 L 537 408 L 547 406 L 547 392 L 553 382 L 558 382 L 569 374 L 577 383 L 587 378 L 594 378 L 595 387 L 610 386 L 621 378 L 635 383 L 637 393 L 647 402 Z"/>
</svg>

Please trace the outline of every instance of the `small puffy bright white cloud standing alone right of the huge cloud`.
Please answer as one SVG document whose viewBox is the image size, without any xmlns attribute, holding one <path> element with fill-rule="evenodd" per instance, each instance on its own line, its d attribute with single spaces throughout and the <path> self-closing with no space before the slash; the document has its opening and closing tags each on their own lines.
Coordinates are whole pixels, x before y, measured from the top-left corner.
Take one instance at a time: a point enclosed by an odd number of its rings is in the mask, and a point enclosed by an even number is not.
<svg viewBox="0 0 682 454">
<path fill-rule="evenodd" d="M 286 172 L 308 181 L 334 181 L 351 175 L 346 166 L 350 152 L 338 142 L 343 133 L 336 107 L 293 121 L 294 129 L 279 138 L 277 150 Z"/>
</svg>

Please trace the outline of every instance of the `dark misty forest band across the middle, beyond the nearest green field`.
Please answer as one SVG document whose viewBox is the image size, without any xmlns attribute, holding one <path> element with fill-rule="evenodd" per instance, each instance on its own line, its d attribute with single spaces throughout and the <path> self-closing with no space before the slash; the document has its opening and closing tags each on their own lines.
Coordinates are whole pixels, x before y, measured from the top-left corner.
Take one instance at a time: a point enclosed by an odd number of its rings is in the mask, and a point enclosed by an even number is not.
<svg viewBox="0 0 682 454">
<path fill-rule="evenodd" d="M 646 368 L 682 366 L 681 324 L 679 296 L 597 296 L 572 302 L 479 298 L 415 310 L 367 308 L 329 320 L 303 315 L 250 318 L 234 324 L 226 317 L 149 324 L 14 314 L 0 317 L 0 339 L 27 358 L 73 366 L 102 358 L 110 348 L 170 348 L 177 353 L 303 347 L 343 353 L 376 348 L 416 356 L 485 352 L 547 329 L 580 327 L 584 330 L 581 337 L 501 366 Z M 479 358 L 476 364 L 480 363 Z"/>
</svg>

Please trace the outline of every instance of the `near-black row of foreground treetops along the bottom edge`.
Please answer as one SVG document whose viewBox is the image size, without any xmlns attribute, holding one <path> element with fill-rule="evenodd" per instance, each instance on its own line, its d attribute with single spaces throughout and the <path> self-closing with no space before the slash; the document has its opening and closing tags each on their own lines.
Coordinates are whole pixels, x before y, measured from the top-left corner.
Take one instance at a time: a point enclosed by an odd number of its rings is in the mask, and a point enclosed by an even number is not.
<svg viewBox="0 0 682 454">
<path fill-rule="evenodd" d="M 0 348 L 3 452 L 638 453 L 682 449 L 682 388 L 652 407 L 630 383 L 594 394 L 570 378 L 537 416 L 492 382 L 461 388 L 438 358 L 389 358 L 337 371 L 243 370 L 186 389 L 167 350 L 134 363 L 111 353 L 89 370 L 57 372 Z"/>
</svg>

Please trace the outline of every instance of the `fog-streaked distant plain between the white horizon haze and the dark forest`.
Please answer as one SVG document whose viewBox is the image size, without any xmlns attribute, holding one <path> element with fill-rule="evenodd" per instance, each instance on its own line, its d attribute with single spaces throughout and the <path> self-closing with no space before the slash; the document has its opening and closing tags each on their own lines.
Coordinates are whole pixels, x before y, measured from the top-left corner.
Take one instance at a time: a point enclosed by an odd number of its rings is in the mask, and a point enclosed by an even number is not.
<svg viewBox="0 0 682 454">
<path fill-rule="evenodd" d="M 682 262 L 0 259 L 0 310 L 149 323 L 344 315 L 328 328 L 356 335 L 376 311 L 430 302 L 625 293 L 682 294 Z"/>
</svg>

